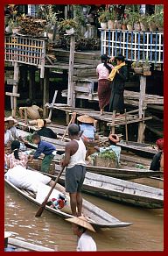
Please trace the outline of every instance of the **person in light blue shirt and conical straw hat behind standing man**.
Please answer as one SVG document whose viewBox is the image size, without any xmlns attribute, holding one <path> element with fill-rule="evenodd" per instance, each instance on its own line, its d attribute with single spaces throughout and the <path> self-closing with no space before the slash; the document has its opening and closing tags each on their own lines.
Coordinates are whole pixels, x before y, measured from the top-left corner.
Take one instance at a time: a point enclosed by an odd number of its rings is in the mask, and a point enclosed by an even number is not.
<svg viewBox="0 0 168 256">
<path fill-rule="evenodd" d="M 76 112 L 73 112 L 73 121 L 75 123 Z M 83 115 L 81 117 L 77 117 L 77 120 L 80 122 L 79 126 L 82 132 L 81 138 L 85 141 L 93 141 L 95 140 L 95 131 L 96 131 L 96 123 L 97 121 L 89 117 L 88 115 Z"/>
</svg>

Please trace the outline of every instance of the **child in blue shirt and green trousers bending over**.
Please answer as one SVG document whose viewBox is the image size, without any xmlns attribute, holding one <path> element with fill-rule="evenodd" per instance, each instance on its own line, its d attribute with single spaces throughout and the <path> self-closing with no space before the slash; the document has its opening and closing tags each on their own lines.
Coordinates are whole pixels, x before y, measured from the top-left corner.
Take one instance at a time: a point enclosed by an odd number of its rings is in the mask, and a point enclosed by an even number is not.
<svg viewBox="0 0 168 256">
<path fill-rule="evenodd" d="M 41 171 L 44 173 L 48 173 L 50 165 L 52 164 L 52 160 L 56 153 L 56 148 L 52 146 L 52 144 L 41 140 L 40 136 L 37 133 L 32 135 L 32 141 L 34 144 L 38 145 L 38 149 L 36 150 L 34 155 L 31 156 L 31 160 L 38 159 L 40 154 L 44 153 L 45 157 L 42 160 Z"/>
</svg>

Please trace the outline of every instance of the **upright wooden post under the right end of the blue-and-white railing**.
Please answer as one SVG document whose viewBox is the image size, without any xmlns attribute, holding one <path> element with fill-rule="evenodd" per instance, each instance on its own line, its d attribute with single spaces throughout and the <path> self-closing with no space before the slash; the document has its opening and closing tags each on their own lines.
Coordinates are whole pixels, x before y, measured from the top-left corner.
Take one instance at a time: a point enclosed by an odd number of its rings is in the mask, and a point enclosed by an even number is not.
<svg viewBox="0 0 168 256">
<path fill-rule="evenodd" d="M 144 99 L 146 91 L 146 76 L 140 75 L 139 119 L 144 117 Z M 144 122 L 139 122 L 137 142 L 144 141 Z"/>
</svg>

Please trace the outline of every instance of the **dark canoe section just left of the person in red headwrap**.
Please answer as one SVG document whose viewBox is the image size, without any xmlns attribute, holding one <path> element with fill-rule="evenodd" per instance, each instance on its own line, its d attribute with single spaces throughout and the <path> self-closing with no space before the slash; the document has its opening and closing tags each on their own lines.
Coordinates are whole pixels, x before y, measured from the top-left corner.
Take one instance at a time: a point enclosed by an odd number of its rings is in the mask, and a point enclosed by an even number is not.
<svg viewBox="0 0 168 256">
<path fill-rule="evenodd" d="M 136 153 L 137 155 L 143 156 L 144 158 L 153 158 L 153 156 L 158 153 L 158 150 L 153 148 L 150 144 L 138 143 L 135 141 L 120 141 L 116 144 L 121 146 L 123 150 Z"/>
</svg>

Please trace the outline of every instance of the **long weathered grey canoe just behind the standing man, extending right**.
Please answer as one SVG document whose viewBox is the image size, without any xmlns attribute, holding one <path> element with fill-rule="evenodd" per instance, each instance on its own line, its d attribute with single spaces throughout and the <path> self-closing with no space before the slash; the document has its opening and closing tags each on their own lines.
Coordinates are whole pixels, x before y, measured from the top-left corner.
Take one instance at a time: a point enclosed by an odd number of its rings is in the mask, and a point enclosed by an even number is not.
<svg viewBox="0 0 168 256">
<path fill-rule="evenodd" d="M 61 175 L 60 182 L 64 184 L 65 173 Z M 157 209 L 164 207 L 164 189 L 123 181 L 100 174 L 87 172 L 83 183 L 83 191 L 118 203 L 131 204 L 143 208 Z"/>
</svg>

